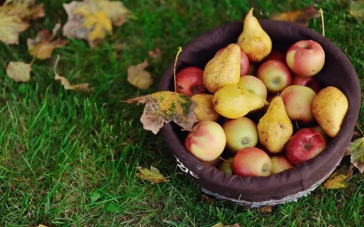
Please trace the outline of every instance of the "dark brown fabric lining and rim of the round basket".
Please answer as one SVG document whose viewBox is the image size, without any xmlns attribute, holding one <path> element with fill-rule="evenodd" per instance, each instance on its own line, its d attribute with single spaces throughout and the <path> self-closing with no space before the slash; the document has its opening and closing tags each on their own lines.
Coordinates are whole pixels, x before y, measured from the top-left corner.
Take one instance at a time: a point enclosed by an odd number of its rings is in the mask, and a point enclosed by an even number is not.
<svg viewBox="0 0 364 227">
<path fill-rule="evenodd" d="M 312 39 L 323 46 L 325 66 L 317 78 L 323 87 L 332 85 L 339 88 L 348 97 L 349 102 L 349 110 L 341 130 L 338 136 L 328 144 L 328 147 L 314 159 L 280 174 L 267 177 L 229 176 L 216 167 L 202 164 L 189 154 L 183 144 L 187 132 L 181 132 L 180 127 L 174 123 L 169 123 L 161 129 L 161 134 L 171 148 L 171 153 L 181 162 L 176 162 L 176 164 L 182 166 L 186 175 L 203 189 L 231 199 L 240 198 L 257 202 L 283 199 L 285 196 L 304 191 L 323 179 L 343 157 L 353 135 L 360 111 L 358 76 L 348 58 L 334 43 L 321 36 L 320 33 L 294 23 L 267 19 L 260 19 L 259 22 L 271 36 L 273 48 L 286 51 L 296 41 L 305 39 Z M 242 29 L 243 21 L 238 21 L 225 24 L 198 36 L 183 47 L 176 65 L 176 72 L 188 66 L 203 69 L 216 51 L 228 46 L 229 43 L 236 43 Z M 173 90 L 173 66 L 174 59 L 171 60 L 170 65 L 163 73 L 158 90 Z"/>
</svg>

